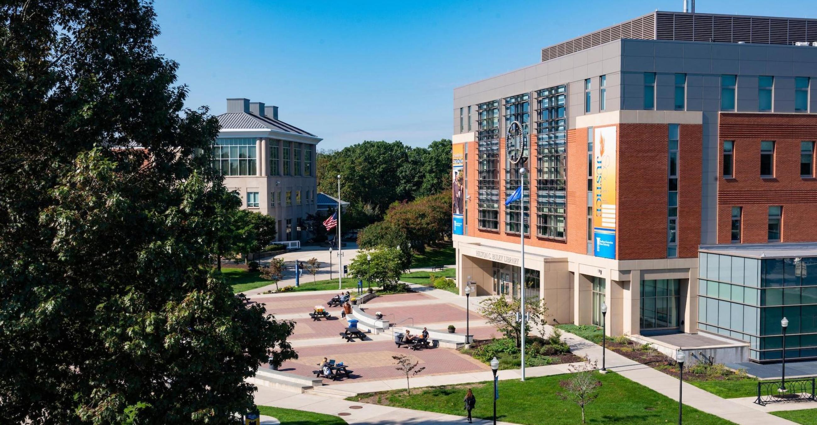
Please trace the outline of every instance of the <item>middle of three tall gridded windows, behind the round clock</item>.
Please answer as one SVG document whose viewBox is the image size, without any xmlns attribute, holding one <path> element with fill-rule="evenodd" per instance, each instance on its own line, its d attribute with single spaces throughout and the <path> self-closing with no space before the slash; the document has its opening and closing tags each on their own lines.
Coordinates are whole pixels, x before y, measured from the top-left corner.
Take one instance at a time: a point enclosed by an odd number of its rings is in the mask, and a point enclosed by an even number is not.
<svg viewBox="0 0 817 425">
<path fill-rule="evenodd" d="M 504 103 L 504 111 L 505 111 L 505 128 L 511 126 L 511 122 L 519 122 L 522 125 L 522 144 L 525 146 L 525 150 L 527 150 L 527 140 L 528 140 L 528 133 L 529 133 L 529 122 L 530 122 L 530 102 L 529 102 L 530 95 L 529 93 L 523 93 L 521 95 L 507 97 L 503 100 Z M 525 157 L 528 156 L 527 153 L 524 154 Z M 505 193 L 513 193 L 516 188 L 519 187 L 520 184 L 523 183 L 523 180 L 520 180 L 519 169 L 522 166 L 522 162 L 517 162 L 516 164 L 511 162 L 509 157 L 505 158 Z M 530 175 L 525 175 L 524 179 L 525 184 L 525 217 L 529 215 L 530 209 Z M 525 228 L 522 229 L 522 223 L 525 223 Z M 529 232 L 529 220 L 523 219 L 522 212 L 520 211 L 520 206 L 518 203 L 512 203 L 509 206 L 505 207 L 505 232 L 511 233 L 519 233 L 519 232 Z"/>
</svg>

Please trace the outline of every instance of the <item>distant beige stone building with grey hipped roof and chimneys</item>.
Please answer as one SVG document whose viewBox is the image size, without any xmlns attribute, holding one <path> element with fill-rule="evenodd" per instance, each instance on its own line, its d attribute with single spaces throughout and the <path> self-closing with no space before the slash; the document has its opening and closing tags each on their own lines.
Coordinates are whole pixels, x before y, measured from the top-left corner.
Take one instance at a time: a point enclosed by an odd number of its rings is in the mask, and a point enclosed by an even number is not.
<svg viewBox="0 0 817 425">
<path fill-rule="evenodd" d="M 316 146 L 320 138 L 279 120 L 278 107 L 228 99 L 218 117 L 213 166 L 243 208 L 275 217 L 276 241 L 310 237 L 306 215 L 315 214 L 318 184 Z"/>
</svg>

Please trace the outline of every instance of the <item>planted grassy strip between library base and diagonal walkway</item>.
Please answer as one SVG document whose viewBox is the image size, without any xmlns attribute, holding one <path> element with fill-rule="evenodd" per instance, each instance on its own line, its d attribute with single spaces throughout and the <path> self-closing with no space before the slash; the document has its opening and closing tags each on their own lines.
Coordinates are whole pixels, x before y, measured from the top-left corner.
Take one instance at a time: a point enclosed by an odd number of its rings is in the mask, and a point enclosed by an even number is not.
<svg viewBox="0 0 817 425">
<path fill-rule="evenodd" d="M 556 325 L 560 330 L 578 335 L 583 339 L 601 344 L 601 328 L 595 325 Z M 678 365 L 667 356 L 626 338 L 607 338 L 607 348 L 634 361 L 649 365 L 665 374 L 678 377 Z M 724 365 L 697 364 L 684 368 L 684 381 L 723 398 L 757 396 L 757 379 L 735 373 Z"/>
</svg>

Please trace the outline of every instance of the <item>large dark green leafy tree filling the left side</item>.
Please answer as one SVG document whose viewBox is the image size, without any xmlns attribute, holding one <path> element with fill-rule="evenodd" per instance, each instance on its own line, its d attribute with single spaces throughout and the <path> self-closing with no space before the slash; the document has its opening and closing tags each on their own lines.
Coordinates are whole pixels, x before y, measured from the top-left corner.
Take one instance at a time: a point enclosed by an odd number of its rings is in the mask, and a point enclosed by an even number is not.
<svg viewBox="0 0 817 425">
<path fill-rule="evenodd" d="M 0 423 L 227 423 L 295 356 L 210 265 L 237 205 L 157 34 L 139 0 L 0 5 Z"/>
</svg>

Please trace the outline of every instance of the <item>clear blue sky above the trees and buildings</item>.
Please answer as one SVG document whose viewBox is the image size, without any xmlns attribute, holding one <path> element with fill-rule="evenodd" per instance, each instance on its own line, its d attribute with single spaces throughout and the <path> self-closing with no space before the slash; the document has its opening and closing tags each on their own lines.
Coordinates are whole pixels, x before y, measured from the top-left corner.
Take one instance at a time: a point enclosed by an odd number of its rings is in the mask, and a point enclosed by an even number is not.
<svg viewBox="0 0 817 425">
<path fill-rule="evenodd" d="M 770 10 L 774 5 L 774 10 Z M 672 1 L 347 2 L 156 0 L 158 51 L 180 64 L 187 106 L 225 99 L 279 117 L 337 149 L 364 139 L 426 146 L 452 134 L 453 88 L 539 60 L 556 42 Z M 696 11 L 817 17 L 809 0 L 699 0 Z"/>
</svg>

